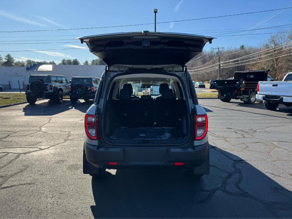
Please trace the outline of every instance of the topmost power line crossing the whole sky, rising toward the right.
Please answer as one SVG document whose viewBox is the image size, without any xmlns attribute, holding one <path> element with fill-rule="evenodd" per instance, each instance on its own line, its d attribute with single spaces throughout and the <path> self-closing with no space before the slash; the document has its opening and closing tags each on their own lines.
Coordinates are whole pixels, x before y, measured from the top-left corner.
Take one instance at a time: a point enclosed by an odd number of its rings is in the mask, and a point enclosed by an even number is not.
<svg viewBox="0 0 292 219">
<path fill-rule="evenodd" d="M 231 16 L 238 16 L 238 15 L 247 15 L 247 14 L 262 13 L 262 12 L 268 12 L 268 11 L 279 11 L 279 10 L 289 9 L 289 8 L 292 8 L 292 7 L 271 9 L 271 10 L 265 10 L 265 11 L 254 11 L 254 12 L 239 13 L 239 14 L 231 14 L 231 15 L 221 15 L 221 16 L 206 17 L 206 18 L 194 18 L 194 19 L 186 19 L 186 20 L 164 21 L 164 22 L 157 22 L 157 24 L 165 24 L 165 23 L 171 23 L 171 22 L 184 22 L 184 21 L 192 21 L 192 20 L 204 20 L 204 19 L 212 19 L 212 18 L 224 18 L 224 17 L 231 17 Z M 70 28 L 70 29 L 51 29 L 51 30 L 49 29 L 49 30 L 0 31 L 0 33 L 62 31 L 62 30 L 80 30 L 80 29 L 98 29 L 98 28 L 110 28 L 110 27 L 141 26 L 141 25 L 150 25 L 150 24 L 154 24 L 154 23 L 131 24 L 131 25 L 117 25 L 117 26 L 104 26 L 104 27 L 84 27 L 84 28 Z"/>
</svg>

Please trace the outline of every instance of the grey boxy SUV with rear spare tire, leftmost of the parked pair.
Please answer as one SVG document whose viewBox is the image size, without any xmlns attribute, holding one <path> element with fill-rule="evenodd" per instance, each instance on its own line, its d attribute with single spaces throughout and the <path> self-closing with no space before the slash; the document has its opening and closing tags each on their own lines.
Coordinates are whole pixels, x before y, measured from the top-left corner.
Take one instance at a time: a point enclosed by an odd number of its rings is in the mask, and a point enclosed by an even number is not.
<svg viewBox="0 0 292 219">
<path fill-rule="evenodd" d="M 63 96 L 69 94 L 70 83 L 63 75 L 30 75 L 26 85 L 26 100 L 34 104 L 36 98 L 48 98 L 56 103 L 63 102 Z"/>
</svg>

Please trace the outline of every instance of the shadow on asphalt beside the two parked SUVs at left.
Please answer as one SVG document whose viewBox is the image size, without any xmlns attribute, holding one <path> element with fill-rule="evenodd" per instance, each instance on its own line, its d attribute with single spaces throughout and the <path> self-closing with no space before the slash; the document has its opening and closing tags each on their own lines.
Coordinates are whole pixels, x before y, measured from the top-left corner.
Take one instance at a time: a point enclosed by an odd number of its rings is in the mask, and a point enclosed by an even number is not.
<svg viewBox="0 0 292 219">
<path fill-rule="evenodd" d="M 53 100 L 48 100 L 47 102 L 27 104 L 22 111 L 25 116 L 52 116 L 73 108 L 85 113 L 91 104 L 92 102 L 80 101 L 72 104 L 70 100 L 66 99 L 63 100 L 63 103 L 56 104 Z"/>
</svg>

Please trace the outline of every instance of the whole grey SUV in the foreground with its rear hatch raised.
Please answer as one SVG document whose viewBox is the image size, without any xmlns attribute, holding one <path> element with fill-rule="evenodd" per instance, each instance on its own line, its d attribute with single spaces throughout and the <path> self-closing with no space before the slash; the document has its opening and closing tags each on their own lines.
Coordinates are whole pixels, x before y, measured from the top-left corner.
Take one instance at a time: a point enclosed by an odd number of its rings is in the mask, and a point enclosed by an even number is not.
<svg viewBox="0 0 292 219">
<path fill-rule="evenodd" d="M 209 174 L 207 114 L 184 66 L 213 38 L 143 31 L 79 39 L 108 66 L 85 115 L 83 173 L 164 167 Z M 167 82 L 161 96 L 152 96 L 150 85 L 160 81 Z M 132 95 L 131 83 L 141 96 Z"/>
</svg>

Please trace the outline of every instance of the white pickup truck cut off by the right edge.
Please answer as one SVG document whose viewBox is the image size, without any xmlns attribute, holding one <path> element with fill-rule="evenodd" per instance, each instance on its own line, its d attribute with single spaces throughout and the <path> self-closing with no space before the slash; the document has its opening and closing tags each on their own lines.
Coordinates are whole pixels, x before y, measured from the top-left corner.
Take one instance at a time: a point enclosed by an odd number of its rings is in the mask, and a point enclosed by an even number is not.
<svg viewBox="0 0 292 219">
<path fill-rule="evenodd" d="M 275 110 L 280 103 L 292 106 L 292 72 L 283 81 L 260 81 L 258 83 L 257 100 L 263 100 L 266 109 Z"/>
</svg>

